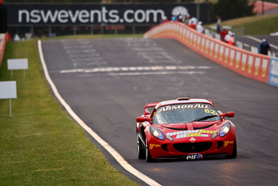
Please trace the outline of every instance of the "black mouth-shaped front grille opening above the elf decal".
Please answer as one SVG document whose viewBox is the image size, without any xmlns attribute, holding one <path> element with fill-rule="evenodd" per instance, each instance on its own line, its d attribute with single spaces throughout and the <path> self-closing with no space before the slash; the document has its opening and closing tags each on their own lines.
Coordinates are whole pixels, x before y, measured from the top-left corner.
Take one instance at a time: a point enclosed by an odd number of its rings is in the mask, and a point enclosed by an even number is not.
<svg viewBox="0 0 278 186">
<path fill-rule="evenodd" d="M 181 153 L 201 153 L 209 148 L 213 143 L 211 142 L 200 142 L 200 143 L 186 143 L 186 144 L 174 144 L 173 147 L 175 150 Z"/>
</svg>

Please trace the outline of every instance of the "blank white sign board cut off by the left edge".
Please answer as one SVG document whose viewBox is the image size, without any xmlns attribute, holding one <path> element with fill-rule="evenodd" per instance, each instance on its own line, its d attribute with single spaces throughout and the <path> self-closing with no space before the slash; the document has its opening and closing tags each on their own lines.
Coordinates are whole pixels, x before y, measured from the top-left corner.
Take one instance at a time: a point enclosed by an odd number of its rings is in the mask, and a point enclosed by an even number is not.
<svg viewBox="0 0 278 186">
<path fill-rule="evenodd" d="M 0 82 L 0 99 L 17 98 L 17 82 Z"/>
</svg>

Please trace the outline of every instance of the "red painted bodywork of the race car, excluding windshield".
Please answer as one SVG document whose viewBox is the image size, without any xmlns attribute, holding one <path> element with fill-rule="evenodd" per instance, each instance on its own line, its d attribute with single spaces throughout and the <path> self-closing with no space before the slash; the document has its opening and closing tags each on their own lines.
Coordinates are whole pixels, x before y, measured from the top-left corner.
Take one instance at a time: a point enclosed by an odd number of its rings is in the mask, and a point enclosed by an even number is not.
<svg viewBox="0 0 278 186">
<path fill-rule="evenodd" d="M 168 102 L 174 101 L 173 104 L 177 104 L 177 100 L 170 100 Z M 206 103 L 210 102 L 210 104 L 215 107 L 211 100 L 206 101 Z M 154 112 L 158 107 L 161 107 L 162 104 L 163 102 L 146 104 L 144 115 L 136 118 L 136 133 L 138 134 L 138 140 L 141 140 L 140 142 L 145 146 L 145 141 L 147 139 L 147 147 L 149 148 L 149 154 L 152 159 L 184 157 L 186 160 L 197 160 L 202 159 L 203 156 L 206 157 L 211 155 L 236 157 L 235 125 L 231 121 L 225 119 L 225 116 L 233 117 L 234 112 L 222 114 L 222 112 L 218 111 L 221 116 L 220 121 L 152 124 Z M 147 111 L 149 107 L 155 107 L 151 113 Z M 220 128 L 226 123 L 230 123 L 231 128 L 224 137 L 220 137 Z M 149 130 L 150 127 L 161 130 L 165 139 L 161 140 L 154 137 Z M 211 136 L 215 132 L 217 132 L 218 135 L 212 139 Z M 166 136 L 172 137 L 173 140 L 170 141 L 171 138 L 168 139 Z"/>
</svg>

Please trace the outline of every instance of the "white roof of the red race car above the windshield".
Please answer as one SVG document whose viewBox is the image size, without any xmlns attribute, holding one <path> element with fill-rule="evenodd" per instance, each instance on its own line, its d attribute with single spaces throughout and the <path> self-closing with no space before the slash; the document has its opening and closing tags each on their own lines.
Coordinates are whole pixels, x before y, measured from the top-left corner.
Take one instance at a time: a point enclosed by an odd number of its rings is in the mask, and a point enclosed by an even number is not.
<svg viewBox="0 0 278 186">
<path fill-rule="evenodd" d="M 215 104 L 211 100 L 206 100 L 206 99 L 199 99 L 199 98 L 177 98 L 176 100 L 167 100 L 163 102 L 159 102 L 156 104 L 156 109 L 158 107 L 162 107 L 165 105 L 170 105 L 170 104 L 183 104 L 183 103 L 206 103 L 206 104 L 211 104 L 213 107 L 215 107 Z"/>
</svg>

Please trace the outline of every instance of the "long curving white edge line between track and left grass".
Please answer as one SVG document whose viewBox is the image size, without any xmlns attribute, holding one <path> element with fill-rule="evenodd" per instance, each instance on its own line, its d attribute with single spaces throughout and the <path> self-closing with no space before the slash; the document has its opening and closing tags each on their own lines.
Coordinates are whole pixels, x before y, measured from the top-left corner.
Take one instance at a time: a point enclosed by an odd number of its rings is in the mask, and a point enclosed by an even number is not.
<svg viewBox="0 0 278 186">
<path fill-rule="evenodd" d="M 47 79 L 47 82 L 49 83 L 49 85 L 52 88 L 52 91 L 54 92 L 56 98 L 60 101 L 60 103 L 63 105 L 63 107 L 65 107 L 65 109 L 67 110 L 67 112 L 72 116 L 72 118 L 74 118 L 74 120 L 79 123 L 79 125 L 81 125 L 81 127 L 83 127 L 83 129 L 88 132 L 90 134 L 91 137 L 93 137 L 101 146 L 103 146 L 108 153 L 110 153 L 115 160 L 117 160 L 117 162 L 124 168 L 126 169 L 126 171 L 129 171 L 129 173 L 132 173 L 134 176 L 136 176 L 137 178 L 139 178 L 140 180 L 144 181 L 145 183 L 147 183 L 148 185 L 160 185 L 159 183 L 157 183 L 155 180 L 153 180 L 152 178 L 149 178 L 148 176 L 146 176 L 145 174 L 141 173 L 140 171 L 138 171 L 137 169 L 135 169 L 133 166 L 131 166 L 131 164 L 129 164 L 128 162 L 126 162 L 126 160 L 124 160 L 124 157 L 122 157 L 122 155 L 120 155 L 120 153 L 118 153 L 112 146 L 110 146 L 106 141 L 104 141 L 103 139 L 101 139 L 101 137 L 99 137 L 99 135 L 97 133 L 95 133 L 90 127 L 88 127 L 88 125 L 86 125 L 81 118 L 79 118 L 79 116 L 77 116 L 74 111 L 72 110 L 72 108 L 70 107 L 69 104 L 67 104 L 67 102 L 65 102 L 65 100 L 62 98 L 62 96 L 60 95 L 60 93 L 58 92 L 54 82 L 52 82 L 52 79 L 49 76 L 49 73 L 47 71 L 47 65 L 45 64 L 44 61 L 44 56 L 42 53 L 42 41 L 38 40 L 38 49 L 39 49 L 39 54 L 40 54 L 40 62 L 42 63 L 42 68 L 44 70 L 44 75 Z"/>
</svg>

